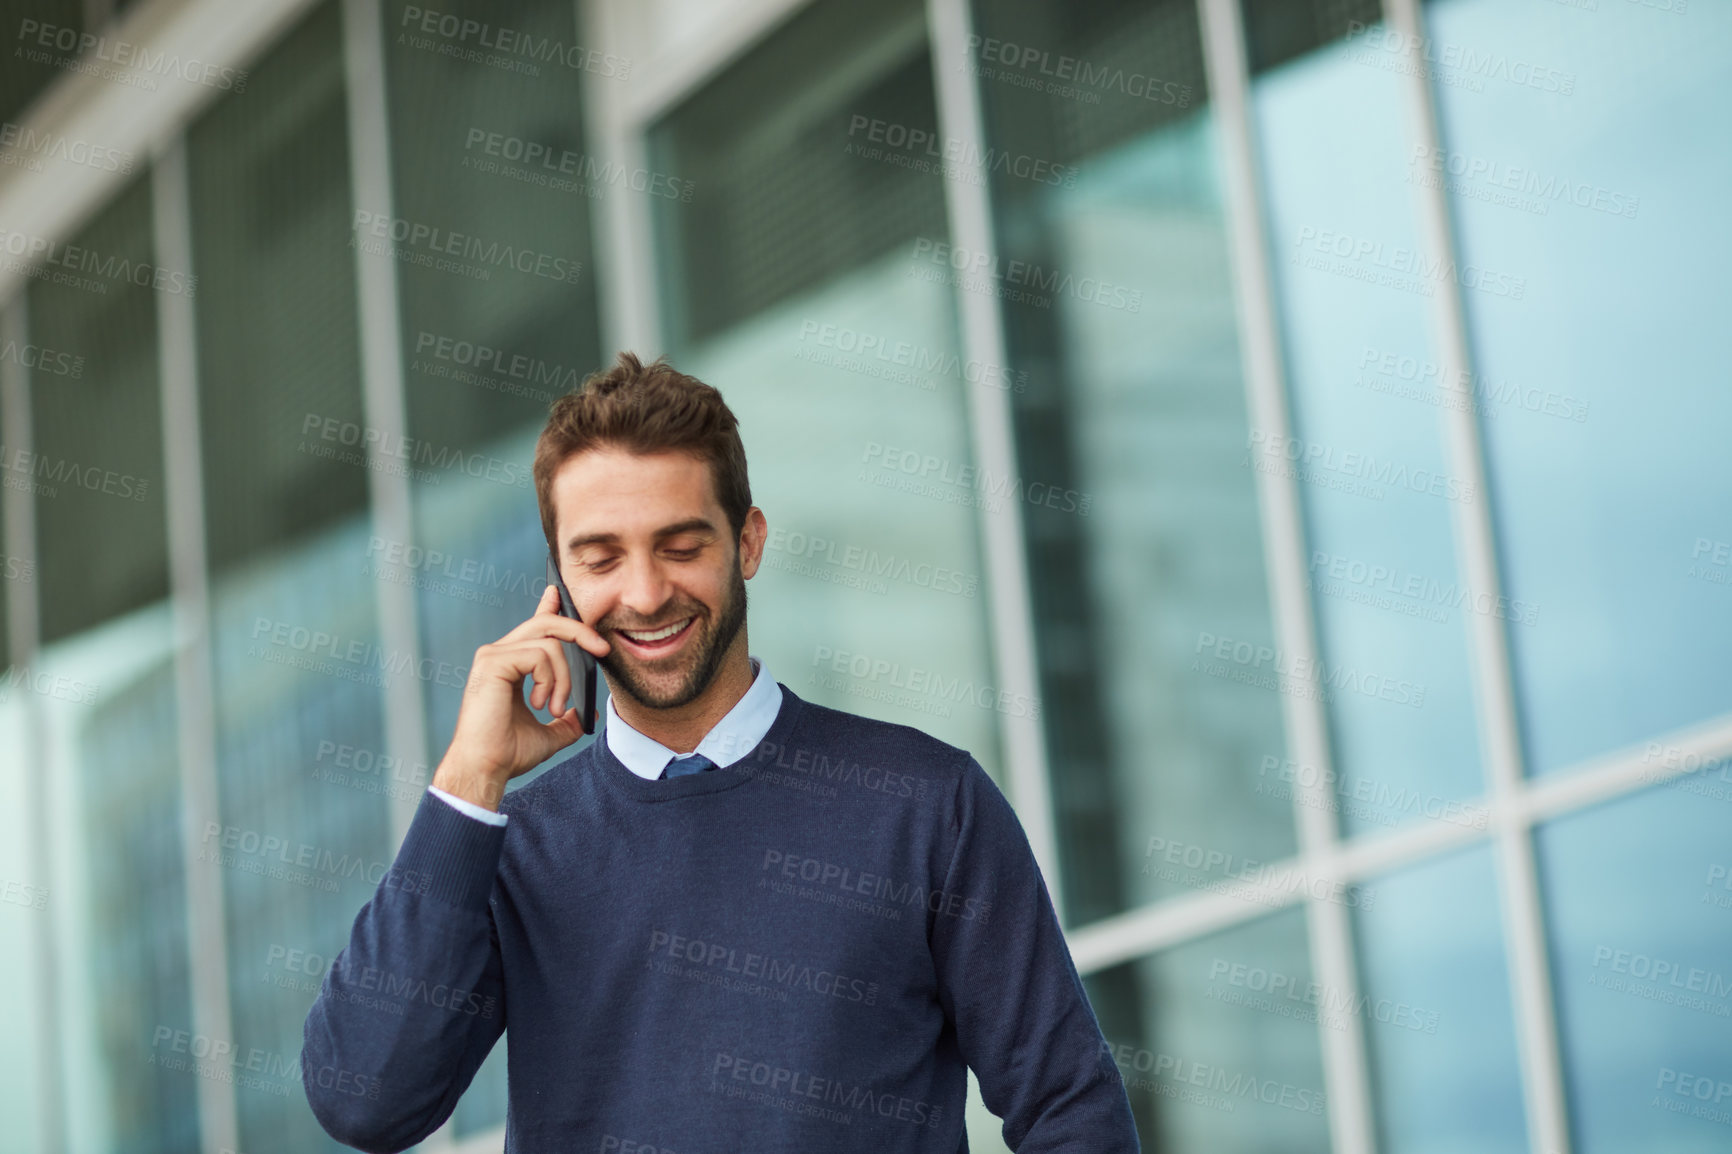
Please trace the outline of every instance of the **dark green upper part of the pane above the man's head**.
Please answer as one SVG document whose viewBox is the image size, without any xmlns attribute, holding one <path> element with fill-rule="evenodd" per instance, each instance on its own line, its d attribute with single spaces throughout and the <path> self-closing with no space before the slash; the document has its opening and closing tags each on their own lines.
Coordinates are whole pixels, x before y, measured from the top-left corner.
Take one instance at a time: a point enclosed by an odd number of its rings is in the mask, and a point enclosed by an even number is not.
<svg viewBox="0 0 1732 1154">
<path fill-rule="evenodd" d="M 726 333 L 906 241 L 942 239 L 939 177 L 902 163 L 925 159 L 908 154 L 908 133 L 934 140 L 935 120 L 911 0 L 812 5 L 688 97 L 650 135 L 681 189 L 655 203 L 669 345 Z"/>
</svg>

